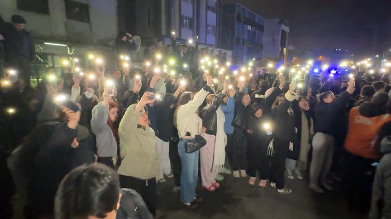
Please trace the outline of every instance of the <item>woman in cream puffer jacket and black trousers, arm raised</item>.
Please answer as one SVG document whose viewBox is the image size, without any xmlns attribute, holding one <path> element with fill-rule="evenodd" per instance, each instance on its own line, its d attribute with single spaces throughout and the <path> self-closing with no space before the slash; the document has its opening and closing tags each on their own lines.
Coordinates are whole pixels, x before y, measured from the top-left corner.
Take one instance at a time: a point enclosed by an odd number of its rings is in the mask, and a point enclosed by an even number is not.
<svg viewBox="0 0 391 219">
<path fill-rule="evenodd" d="M 145 201 L 151 214 L 156 214 L 156 179 L 160 177 L 159 154 L 155 132 L 148 124 L 146 105 L 154 96 L 145 92 L 138 104 L 126 109 L 118 134 L 121 164 L 118 168 L 122 188 L 135 189 Z"/>
</svg>

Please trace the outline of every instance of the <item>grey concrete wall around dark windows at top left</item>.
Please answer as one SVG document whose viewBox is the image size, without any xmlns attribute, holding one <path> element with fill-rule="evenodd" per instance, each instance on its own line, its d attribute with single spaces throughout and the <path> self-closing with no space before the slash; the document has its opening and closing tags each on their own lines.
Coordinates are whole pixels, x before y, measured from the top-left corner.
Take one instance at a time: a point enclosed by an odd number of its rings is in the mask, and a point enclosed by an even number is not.
<svg viewBox="0 0 391 219">
<path fill-rule="evenodd" d="M 66 19 L 64 0 L 48 0 L 49 14 L 18 10 L 16 0 L 0 0 L 0 14 L 9 21 L 20 14 L 37 39 L 112 44 L 117 36 L 116 0 L 74 0 L 89 4 L 90 23 Z"/>
</svg>

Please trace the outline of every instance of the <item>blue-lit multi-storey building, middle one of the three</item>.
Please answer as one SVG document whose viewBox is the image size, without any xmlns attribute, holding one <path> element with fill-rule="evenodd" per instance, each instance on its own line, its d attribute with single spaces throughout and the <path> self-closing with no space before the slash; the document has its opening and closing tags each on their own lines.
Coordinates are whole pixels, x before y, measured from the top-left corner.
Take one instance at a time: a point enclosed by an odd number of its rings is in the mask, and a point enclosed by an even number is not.
<svg viewBox="0 0 391 219">
<path fill-rule="evenodd" d="M 233 50 L 235 64 L 262 58 L 264 19 L 238 3 L 223 5 L 219 46 Z"/>
</svg>

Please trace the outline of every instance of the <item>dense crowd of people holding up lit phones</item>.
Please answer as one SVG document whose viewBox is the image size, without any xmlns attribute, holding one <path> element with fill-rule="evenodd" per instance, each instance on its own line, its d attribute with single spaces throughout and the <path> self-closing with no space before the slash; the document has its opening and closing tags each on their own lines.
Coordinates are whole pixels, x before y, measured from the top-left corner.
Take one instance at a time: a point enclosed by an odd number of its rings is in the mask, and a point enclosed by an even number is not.
<svg viewBox="0 0 391 219">
<path fill-rule="evenodd" d="M 14 196 L 14 217 L 152 218 L 167 178 L 195 208 L 199 178 L 209 192 L 232 174 L 291 194 L 285 178 L 304 172 L 314 192 L 343 180 L 350 208 L 390 217 L 389 73 L 256 75 L 172 41 L 150 44 L 144 69 L 118 56 L 120 69 L 49 72 L 37 88 L 23 69 L 5 74 L 0 142 L 15 189 L 2 197 Z"/>
</svg>

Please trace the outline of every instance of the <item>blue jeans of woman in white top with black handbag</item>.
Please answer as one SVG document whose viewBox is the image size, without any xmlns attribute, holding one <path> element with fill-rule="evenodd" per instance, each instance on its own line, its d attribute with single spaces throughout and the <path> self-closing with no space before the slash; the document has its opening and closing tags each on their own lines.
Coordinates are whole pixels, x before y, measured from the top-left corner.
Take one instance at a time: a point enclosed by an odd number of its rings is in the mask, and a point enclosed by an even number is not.
<svg viewBox="0 0 391 219">
<path fill-rule="evenodd" d="M 185 152 L 185 139 L 178 143 L 178 154 L 181 157 L 181 201 L 192 202 L 196 196 L 195 187 L 198 181 L 199 150 L 191 154 Z"/>
</svg>

